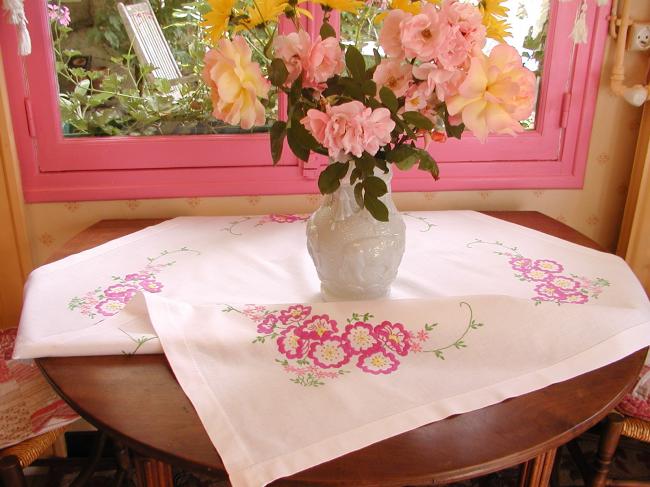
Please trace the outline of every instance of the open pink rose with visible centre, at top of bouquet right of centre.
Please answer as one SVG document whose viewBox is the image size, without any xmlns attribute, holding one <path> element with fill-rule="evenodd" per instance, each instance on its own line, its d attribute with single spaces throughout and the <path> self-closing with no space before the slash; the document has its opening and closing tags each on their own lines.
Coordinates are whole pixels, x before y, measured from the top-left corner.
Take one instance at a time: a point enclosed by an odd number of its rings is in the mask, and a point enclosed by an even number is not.
<svg viewBox="0 0 650 487">
<path fill-rule="evenodd" d="M 445 27 L 447 26 L 440 21 L 438 10 L 431 4 L 424 5 L 418 15 L 402 20 L 400 40 L 405 57 L 431 61 L 439 50 L 437 37 Z"/>
</svg>

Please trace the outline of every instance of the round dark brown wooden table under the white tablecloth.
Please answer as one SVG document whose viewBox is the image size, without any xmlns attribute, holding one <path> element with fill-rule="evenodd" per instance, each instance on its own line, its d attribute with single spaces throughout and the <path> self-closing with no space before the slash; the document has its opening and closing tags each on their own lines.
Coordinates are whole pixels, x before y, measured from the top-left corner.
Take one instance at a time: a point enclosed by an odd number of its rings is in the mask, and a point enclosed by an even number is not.
<svg viewBox="0 0 650 487">
<path fill-rule="evenodd" d="M 598 248 L 540 213 L 488 214 Z M 100 222 L 68 242 L 52 260 L 158 221 Z M 523 462 L 523 483 L 546 485 L 555 449 L 594 425 L 620 401 L 644 356 L 642 350 L 572 380 L 403 433 L 277 485 L 446 483 Z M 43 358 L 37 363 L 79 414 L 144 458 L 137 465 L 143 483 L 171 485 L 169 464 L 225 477 L 219 455 L 163 355 Z"/>
</svg>

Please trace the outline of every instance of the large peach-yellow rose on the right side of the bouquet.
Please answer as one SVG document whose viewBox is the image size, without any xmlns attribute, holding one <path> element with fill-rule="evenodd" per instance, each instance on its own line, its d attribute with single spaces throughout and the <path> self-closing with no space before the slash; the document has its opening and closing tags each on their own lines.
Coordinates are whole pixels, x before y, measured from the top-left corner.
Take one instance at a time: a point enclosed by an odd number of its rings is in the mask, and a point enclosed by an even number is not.
<svg viewBox="0 0 650 487">
<path fill-rule="evenodd" d="M 485 141 L 488 133 L 515 134 L 530 116 L 535 103 L 535 75 L 522 66 L 517 50 L 499 44 L 489 57 L 471 60 L 458 95 L 447 100 L 452 116 L 461 115 L 474 135 Z"/>
</svg>

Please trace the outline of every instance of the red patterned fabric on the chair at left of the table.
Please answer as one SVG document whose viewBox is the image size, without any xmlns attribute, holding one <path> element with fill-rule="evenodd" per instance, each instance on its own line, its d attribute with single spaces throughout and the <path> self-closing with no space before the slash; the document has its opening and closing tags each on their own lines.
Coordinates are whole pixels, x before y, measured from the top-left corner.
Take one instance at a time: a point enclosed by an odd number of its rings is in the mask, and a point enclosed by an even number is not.
<svg viewBox="0 0 650 487">
<path fill-rule="evenodd" d="M 0 330 L 0 448 L 78 419 L 32 360 L 11 359 L 16 330 Z"/>
</svg>

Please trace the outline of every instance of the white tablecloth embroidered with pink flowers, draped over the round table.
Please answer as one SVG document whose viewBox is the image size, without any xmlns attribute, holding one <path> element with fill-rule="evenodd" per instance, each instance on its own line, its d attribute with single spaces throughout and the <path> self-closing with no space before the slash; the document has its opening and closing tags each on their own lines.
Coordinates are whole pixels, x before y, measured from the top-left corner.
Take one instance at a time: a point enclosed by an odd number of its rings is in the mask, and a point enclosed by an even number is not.
<svg viewBox="0 0 650 487">
<path fill-rule="evenodd" d="M 34 271 L 15 354 L 164 350 L 244 486 L 650 344 L 618 257 L 474 212 L 405 220 L 391 299 L 342 303 L 320 300 L 303 217 L 150 227 Z"/>
</svg>

